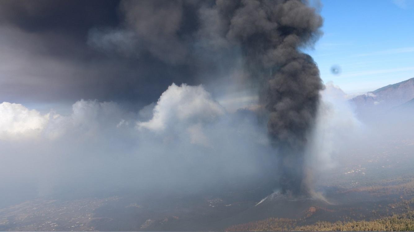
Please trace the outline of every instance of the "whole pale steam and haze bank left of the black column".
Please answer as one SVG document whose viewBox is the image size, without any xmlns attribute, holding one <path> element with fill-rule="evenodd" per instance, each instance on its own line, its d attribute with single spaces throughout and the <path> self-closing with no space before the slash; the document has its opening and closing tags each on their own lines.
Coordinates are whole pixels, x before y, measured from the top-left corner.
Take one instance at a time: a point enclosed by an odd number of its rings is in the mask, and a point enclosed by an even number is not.
<svg viewBox="0 0 414 232">
<path fill-rule="evenodd" d="M 265 125 L 251 111 L 228 113 L 202 86 L 173 84 L 138 113 L 97 100 L 69 115 L 0 110 L 0 175 L 17 173 L 0 180 L 6 192 L 198 191 L 273 171 Z"/>
</svg>

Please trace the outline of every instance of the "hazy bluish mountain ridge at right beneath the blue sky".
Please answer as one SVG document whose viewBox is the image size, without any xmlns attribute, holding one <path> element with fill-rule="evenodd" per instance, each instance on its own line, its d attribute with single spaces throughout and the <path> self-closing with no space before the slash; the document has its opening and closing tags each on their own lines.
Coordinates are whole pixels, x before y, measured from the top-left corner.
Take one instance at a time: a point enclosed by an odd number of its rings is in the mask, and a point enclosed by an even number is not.
<svg viewBox="0 0 414 232">
<path fill-rule="evenodd" d="M 414 78 L 387 85 L 351 99 L 360 116 L 371 116 L 398 107 L 414 99 Z"/>
</svg>

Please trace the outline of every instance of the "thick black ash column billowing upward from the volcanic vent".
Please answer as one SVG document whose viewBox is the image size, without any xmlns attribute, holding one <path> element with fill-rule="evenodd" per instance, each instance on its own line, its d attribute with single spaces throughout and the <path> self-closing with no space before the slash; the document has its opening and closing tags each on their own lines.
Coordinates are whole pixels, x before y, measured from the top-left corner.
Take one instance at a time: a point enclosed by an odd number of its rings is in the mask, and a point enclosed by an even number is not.
<svg viewBox="0 0 414 232">
<path fill-rule="evenodd" d="M 321 35 L 322 18 L 298 0 L 218 1 L 236 6 L 227 38 L 241 44 L 246 69 L 269 112 L 268 133 L 280 157 L 283 193 L 310 194 L 305 172 L 306 137 L 315 123 L 323 83 L 313 59 L 300 48 Z"/>
</svg>

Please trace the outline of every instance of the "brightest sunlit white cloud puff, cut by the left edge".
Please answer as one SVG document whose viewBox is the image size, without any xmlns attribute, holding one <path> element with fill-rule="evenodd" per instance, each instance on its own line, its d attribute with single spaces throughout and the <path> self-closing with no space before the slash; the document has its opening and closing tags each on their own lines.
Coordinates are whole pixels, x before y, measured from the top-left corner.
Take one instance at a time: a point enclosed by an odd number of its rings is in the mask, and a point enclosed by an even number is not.
<svg viewBox="0 0 414 232">
<path fill-rule="evenodd" d="M 49 121 L 49 114 L 42 115 L 22 104 L 0 104 L 0 139 L 39 135 Z"/>
</svg>

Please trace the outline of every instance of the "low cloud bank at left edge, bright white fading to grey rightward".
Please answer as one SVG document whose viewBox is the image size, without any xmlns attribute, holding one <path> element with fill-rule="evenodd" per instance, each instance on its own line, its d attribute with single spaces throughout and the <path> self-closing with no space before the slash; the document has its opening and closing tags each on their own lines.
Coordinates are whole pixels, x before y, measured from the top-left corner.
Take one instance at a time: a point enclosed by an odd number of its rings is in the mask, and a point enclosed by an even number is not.
<svg viewBox="0 0 414 232">
<path fill-rule="evenodd" d="M 105 128 L 128 125 L 128 117 L 115 102 L 79 100 L 72 105 L 72 113 L 61 116 L 51 110 L 48 114 L 29 110 L 22 104 L 3 102 L 0 104 L 0 139 L 22 139 L 38 137 L 56 139 L 75 130 L 82 135 L 99 135 Z"/>
</svg>

